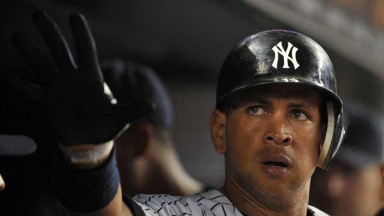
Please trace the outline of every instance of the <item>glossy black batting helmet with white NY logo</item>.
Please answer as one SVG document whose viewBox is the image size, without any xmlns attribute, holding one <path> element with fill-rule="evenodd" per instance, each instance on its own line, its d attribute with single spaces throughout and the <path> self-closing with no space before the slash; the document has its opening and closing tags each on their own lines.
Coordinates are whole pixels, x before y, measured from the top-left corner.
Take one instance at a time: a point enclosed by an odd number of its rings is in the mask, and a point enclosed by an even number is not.
<svg viewBox="0 0 384 216">
<path fill-rule="evenodd" d="M 269 83 L 292 83 L 318 89 L 326 101 L 328 125 L 317 166 L 328 169 L 344 136 L 343 103 L 336 75 L 324 49 L 311 38 L 288 30 L 252 34 L 234 47 L 222 64 L 216 108 L 240 90 Z"/>
</svg>

